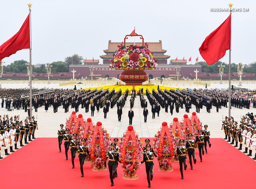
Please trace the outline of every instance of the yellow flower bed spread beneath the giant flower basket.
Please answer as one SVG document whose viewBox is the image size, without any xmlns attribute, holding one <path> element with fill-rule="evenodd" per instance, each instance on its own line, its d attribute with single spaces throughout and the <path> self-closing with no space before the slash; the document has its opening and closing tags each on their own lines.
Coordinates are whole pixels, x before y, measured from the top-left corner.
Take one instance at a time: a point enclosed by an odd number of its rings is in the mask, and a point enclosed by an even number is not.
<svg viewBox="0 0 256 189">
<path fill-rule="evenodd" d="M 122 93 L 124 93 L 124 91 L 126 90 L 126 89 L 128 89 L 129 90 L 129 94 L 131 94 L 131 91 L 132 91 L 132 89 L 133 89 L 133 86 L 132 85 L 108 85 L 108 86 L 101 86 L 101 87 L 92 87 L 92 88 L 86 88 L 86 89 L 80 89 L 80 90 L 88 90 L 88 89 L 91 89 L 91 90 L 95 90 L 95 89 L 97 89 L 97 90 L 101 90 L 101 89 L 103 89 L 104 91 L 105 90 L 107 90 L 107 89 L 109 89 L 109 91 L 111 91 L 112 89 L 114 89 L 115 88 L 115 91 L 117 92 L 117 91 L 119 91 L 119 89 L 121 89 L 122 90 Z M 146 89 L 148 89 L 149 90 L 149 92 L 151 92 L 152 93 L 152 90 L 153 89 L 155 89 L 155 91 L 157 91 L 157 85 L 135 85 L 135 87 L 134 87 L 134 89 L 138 92 L 139 91 L 139 89 L 141 89 L 141 88 L 143 88 L 143 93 L 146 93 Z M 162 89 L 162 91 L 164 91 L 164 89 L 166 89 L 166 90 L 170 90 L 170 89 L 172 89 L 172 90 L 176 90 L 176 89 L 178 89 L 178 90 L 183 90 L 182 88 L 176 88 L 176 87 L 166 87 L 166 86 L 159 86 L 159 89 Z"/>
</svg>

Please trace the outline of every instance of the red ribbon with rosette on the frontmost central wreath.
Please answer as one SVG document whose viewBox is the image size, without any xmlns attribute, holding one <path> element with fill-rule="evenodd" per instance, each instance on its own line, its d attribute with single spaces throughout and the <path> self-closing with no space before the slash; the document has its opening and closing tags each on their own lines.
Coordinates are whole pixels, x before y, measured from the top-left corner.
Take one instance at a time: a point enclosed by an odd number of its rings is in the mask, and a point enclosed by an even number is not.
<svg viewBox="0 0 256 189">
<path fill-rule="evenodd" d="M 132 138 L 132 147 L 133 147 L 133 154 L 132 154 L 132 165 L 129 168 L 129 170 L 132 170 L 136 159 L 137 159 L 137 145 L 136 145 L 136 136 L 135 136 L 135 132 L 133 130 L 133 127 L 130 125 L 128 127 L 128 130 L 126 131 L 126 135 L 124 138 L 124 143 L 123 143 L 123 147 L 122 147 L 122 154 L 121 154 L 121 163 L 124 164 L 124 156 L 125 156 L 125 152 L 126 152 L 126 147 L 127 147 L 127 143 L 129 141 L 129 137 L 131 136 Z"/>
</svg>

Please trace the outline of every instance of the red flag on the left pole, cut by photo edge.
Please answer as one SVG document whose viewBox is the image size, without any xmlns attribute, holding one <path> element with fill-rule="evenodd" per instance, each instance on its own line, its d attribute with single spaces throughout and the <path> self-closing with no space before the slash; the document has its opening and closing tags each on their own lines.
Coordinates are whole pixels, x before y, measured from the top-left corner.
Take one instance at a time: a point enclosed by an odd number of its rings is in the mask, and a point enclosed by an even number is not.
<svg viewBox="0 0 256 189">
<path fill-rule="evenodd" d="M 0 46 L 0 61 L 21 49 L 30 48 L 29 14 L 18 33 Z"/>
</svg>

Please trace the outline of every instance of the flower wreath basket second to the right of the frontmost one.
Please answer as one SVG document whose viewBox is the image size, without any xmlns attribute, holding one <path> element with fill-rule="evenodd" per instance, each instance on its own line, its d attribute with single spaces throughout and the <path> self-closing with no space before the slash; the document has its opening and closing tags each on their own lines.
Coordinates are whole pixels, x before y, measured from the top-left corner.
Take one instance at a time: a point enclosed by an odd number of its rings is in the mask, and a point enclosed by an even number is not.
<svg viewBox="0 0 256 189">
<path fill-rule="evenodd" d="M 177 163 L 179 162 L 178 155 L 177 155 L 177 147 L 180 146 L 180 139 L 185 140 L 186 133 L 183 127 L 181 127 L 178 118 L 173 118 L 172 124 L 170 124 L 171 134 L 173 136 L 173 146 L 174 146 L 174 157 L 172 158 L 172 162 Z"/>
</svg>

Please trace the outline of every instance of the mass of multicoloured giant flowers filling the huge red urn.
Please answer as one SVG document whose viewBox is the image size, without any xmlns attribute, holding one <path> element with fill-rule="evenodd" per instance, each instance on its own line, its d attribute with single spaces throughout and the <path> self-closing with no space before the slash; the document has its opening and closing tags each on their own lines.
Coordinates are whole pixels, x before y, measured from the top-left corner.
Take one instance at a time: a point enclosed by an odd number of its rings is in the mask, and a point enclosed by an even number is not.
<svg viewBox="0 0 256 189">
<path fill-rule="evenodd" d="M 144 46 L 118 45 L 118 50 L 110 60 L 109 68 L 115 69 L 153 69 L 157 66 L 157 60 L 153 53 L 148 50 L 148 44 Z"/>
</svg>

